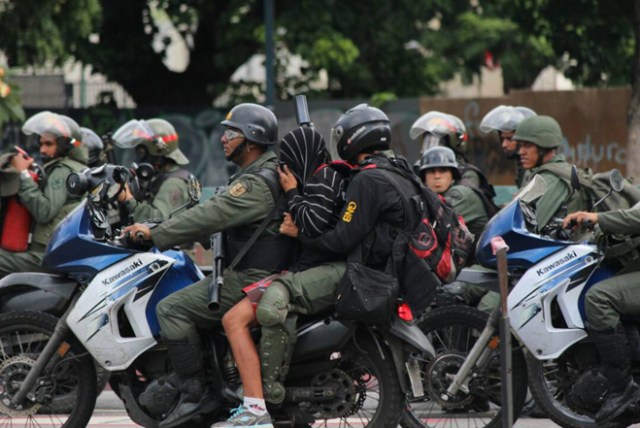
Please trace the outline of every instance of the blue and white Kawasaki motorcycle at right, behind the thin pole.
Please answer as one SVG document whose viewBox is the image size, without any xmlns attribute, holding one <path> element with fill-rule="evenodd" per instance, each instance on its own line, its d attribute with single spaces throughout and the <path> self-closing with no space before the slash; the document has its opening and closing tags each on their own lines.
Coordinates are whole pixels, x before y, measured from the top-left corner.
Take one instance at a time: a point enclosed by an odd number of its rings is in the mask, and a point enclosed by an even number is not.
<svg viewBox="0 0 640 428">
<path fill-rule="evenodd" d="M 572 181 L 574 191 L 578 190 L 577 178 Z M 621 183 L 621 175 L 612 174 L 611 191 L 619 191 Z M 564 427 L 596 427 L 594 415 L 606 390 L 593 370 L 598 356 L 584 325 L 584 296 L 591 286 L 615 275 L 618 268 L 604 260 L 603 248 L 590 243 L 586 239 L 589 235 L 571 237 L 563 229 L 562 219 L 554 219 L 543 234 L 534 232 L 535 202 L 545 189 L 544 179 L 534 177 L 488 223 L 476 251 L 481 267 L 464 269 L 458 278 L 498 291 L 491 239 L 501 236 L 506 241 L 510 283 L 507 307 L 512 343 L 517 344 L 512 353 L 513 414 L 519 414 L 528 386 L 536 403 L 554 422 Z M 420 321 L 436 349 L 436 359 L 423 364 L 428 373 L 428 393 L 426 399 L 409 400 L 403 426 L 438 426 L 442 419 L 435 419 L 436 415 L 447 411 L 451 403 L 473 403 L 474 391 L 483 384 L 487 370 L 496 366 L 499 311 L 495 308 L 487 318 L 474 308 L 453 305 L 431 311 Z M 442 321 L 445 318 L 448 321 Z M 635 323 L 629 326 L 637 337 Z M 471 339 L 460 340 L 467 337 Z M 460 342 L 468 346 L 461 347 Z M 446 361 L 448 371 L 442 370 L 446 376 L 437 378 L 440 372 L 436 369 Z M 441 381 L 435 382 L 434 378 Z M 499 376 L 495 380 L 499 382 Z M 485 408 L 499 404 L 503 404 L 500 395 L 494 394 Z M 499 412 L 482 419 L 485 413 L 474 412 L 473 406 L 460 408 L 470 416 L 477 415 L 476 426 L 501 426 Z M 628 426 L 635 420 L 637 415 L 627 411 L 606 426 Z"/>
</svg>

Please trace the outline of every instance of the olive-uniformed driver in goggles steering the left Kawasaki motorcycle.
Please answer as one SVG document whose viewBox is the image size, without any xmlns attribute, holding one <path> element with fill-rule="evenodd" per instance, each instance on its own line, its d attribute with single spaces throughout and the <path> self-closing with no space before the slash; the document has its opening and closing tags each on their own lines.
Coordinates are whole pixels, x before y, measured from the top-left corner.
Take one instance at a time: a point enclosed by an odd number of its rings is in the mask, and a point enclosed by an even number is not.
<svg viewBox="0 0 640 428">
<path fill-rule="evenodd" d="M 227 129 L 222 145 L 227 160 L 240 167 L 230 178 L 226 190 L 209 201 L 183 211 L 159 226 L 149 229 L 134 224 L 124 233 L 142 233 L 160 249 L 177 244 L 209 239 L 225 231 L 226 258 L 235 255 L 254 230 L 274 209 L 281 192 L 276 173 L 276 155 L 268 150 L 278 138 L 274 114 L 256 104 L 234 107 L 222 122 Z M 225 269 L 220 290 L 220 310 L 210 311 L 211 277 L 198 281 L 162 300 L 157 307 L 162 337 L 175 372 L 180 377 L 182 396 L 176 410 L 161 427 L 176 426 L 215 405 L 204 385 L 203 356 L 196 327 L 211 328 L 244 294 L 242 288 L 269 274 L 287 268 L 294 256 L 295 240 L 279 233 L 282 213 L 273 216 L 236 267 Z"/>
</svg>

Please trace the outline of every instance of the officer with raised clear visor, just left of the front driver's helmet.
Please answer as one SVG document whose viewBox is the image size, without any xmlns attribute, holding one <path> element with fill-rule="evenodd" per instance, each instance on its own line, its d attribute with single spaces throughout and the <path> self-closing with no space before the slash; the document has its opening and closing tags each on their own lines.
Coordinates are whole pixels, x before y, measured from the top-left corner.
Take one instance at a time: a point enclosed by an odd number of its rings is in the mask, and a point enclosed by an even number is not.
<svg viewBox="0 0 640 428">
<path fill-rule="evenodd" d="M 178 134 L 164 119 L 131 120 L 122 125 L 113 140 L 122 148 L 135 148 L 139 194 L 127 185 L 118 196 L 126 216 L 134 222 L 167 219 L 189 202 L 185 168 L 189 159 L 178 147 Z"/>
</svg>

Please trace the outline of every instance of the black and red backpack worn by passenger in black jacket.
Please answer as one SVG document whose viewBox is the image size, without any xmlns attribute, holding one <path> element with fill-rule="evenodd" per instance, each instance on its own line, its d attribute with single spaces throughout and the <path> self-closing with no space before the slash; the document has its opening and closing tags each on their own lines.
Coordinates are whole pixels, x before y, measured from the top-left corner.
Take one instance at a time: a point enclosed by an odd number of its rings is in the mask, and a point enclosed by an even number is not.
<svg viewBox="0 0 640 428">
<path fill-rule="evenodd" d="M 395 165 L 378 165 L 378 169 L 402 198 L 405 224 L 415 226 L 408 231 L 396 229 L 391 270 L 412 310 L 420 313 L 431 304 L 441 283 L 452 281 L 470 261 L 473 236 L 444 198 L 422 185 L 410 169 Z"/>
</svg>

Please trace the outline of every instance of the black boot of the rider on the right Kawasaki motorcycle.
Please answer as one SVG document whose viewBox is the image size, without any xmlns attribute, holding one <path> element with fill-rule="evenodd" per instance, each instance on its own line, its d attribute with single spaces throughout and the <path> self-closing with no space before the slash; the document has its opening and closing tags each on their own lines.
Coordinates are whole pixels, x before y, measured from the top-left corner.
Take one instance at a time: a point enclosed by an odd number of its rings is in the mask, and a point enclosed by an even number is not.
<svg viewBox="0 0 640 428">
<path fill-rule="evenodd" d="M 591 336 L 604 363 L 603 373 L 609 384 L 605 402 L 595 416 L 596 422 L 602 423 L 615 418 L 640 399 L 640 386 L 629 374 L 631 356 L 624 332 L 621 329 L 592 332 Z"/>
</svg>

